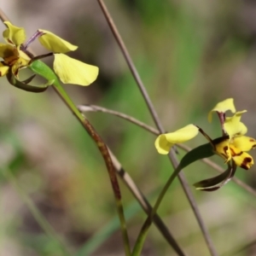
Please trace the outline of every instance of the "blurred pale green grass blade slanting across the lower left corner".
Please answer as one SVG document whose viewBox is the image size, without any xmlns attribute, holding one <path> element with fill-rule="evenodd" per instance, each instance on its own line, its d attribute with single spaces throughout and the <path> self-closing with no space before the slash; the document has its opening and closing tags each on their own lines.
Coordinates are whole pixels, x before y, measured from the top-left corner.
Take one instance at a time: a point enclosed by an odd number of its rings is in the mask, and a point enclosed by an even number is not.
<svg viewBox="0 0 256 256">
<path fill-rule="evenodd" d="M 63 243 L 60 237 L 55 233 L 55 230 L 49 224 L 48 220 L 44 218 L 44 215 L 38 210 L 38 207 L 36 207 L 33 201 L 20 188 L 20 185 L 17 182 L 16 177 L 12 174 L 9 168 L 6 166 L 2 166 L 1 173 L 3 173 L 3 176 L 9 181 L 9 183 L 11 183 L 15 191 L 20 196 L 21 200 L 24 202 L 24 204 L 29 209 L 29 211 L 32 213 L 33 218 L 37 220 L 40 227 L 44 230 L 45 234 L 58 244 L 63 255 L 66 255 L 66 256 L 71 255 L 71 253 L 67 250 L 65 243 Z"/>
</svg>

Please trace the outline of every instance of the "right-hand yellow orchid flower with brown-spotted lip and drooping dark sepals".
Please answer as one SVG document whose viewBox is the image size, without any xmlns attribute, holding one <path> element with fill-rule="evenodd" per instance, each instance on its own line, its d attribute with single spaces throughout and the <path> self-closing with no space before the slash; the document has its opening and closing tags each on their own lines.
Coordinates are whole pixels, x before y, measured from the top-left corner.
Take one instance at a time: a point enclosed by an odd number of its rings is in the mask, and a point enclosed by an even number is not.
<svg viewBox="0 0 256 256">
<path fill-rule="evenodd" d="M 226 117 L 225 113 L 230 110 L 235 113 L 232 117 Z M 227 183 L 236 172 L 236 166 L 248 170 L 253 166 L 253 157 L 245 151 L 256 147 L 256 140 L 252 137 L 244 136 L 247 127 L 241 122 L 241 114 L 246 110 L 236 112 L 233 99 L 227 99 L 212 108 L 208 114 L 208 120 L 212 120 L 212 112 L 218 113 L 218 118 L 222 127 L 222 137 L 212 140 L 201 128 L 195 125 L 187 125 L 180 130 L 161 134 L 157 137 L 154 145 L 160 154 L 168 154 L 175 143 L 186 142 L 198 134 L 200 131 L 212 145 L 212 152 L 218 154 L 228 164 L 228 169 L 218 177 L 213 177 L 195 183 L 197 189 L 212 191 Z"/>
</svg>

